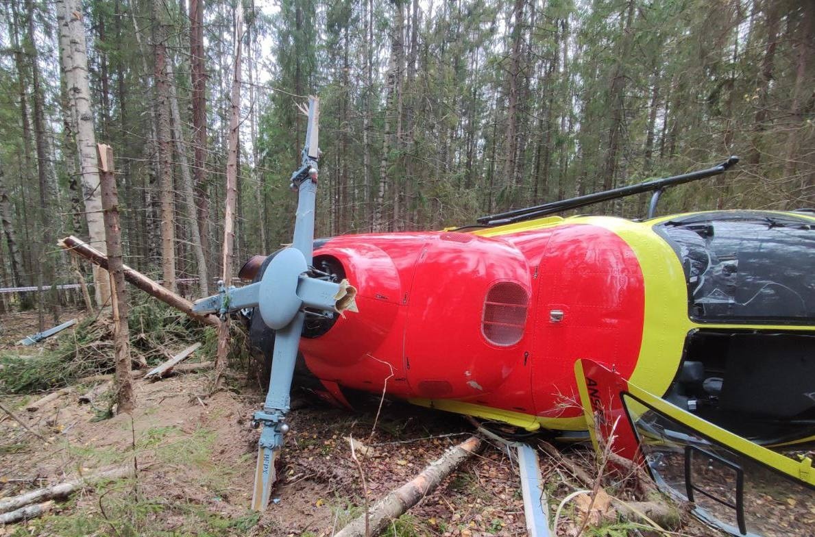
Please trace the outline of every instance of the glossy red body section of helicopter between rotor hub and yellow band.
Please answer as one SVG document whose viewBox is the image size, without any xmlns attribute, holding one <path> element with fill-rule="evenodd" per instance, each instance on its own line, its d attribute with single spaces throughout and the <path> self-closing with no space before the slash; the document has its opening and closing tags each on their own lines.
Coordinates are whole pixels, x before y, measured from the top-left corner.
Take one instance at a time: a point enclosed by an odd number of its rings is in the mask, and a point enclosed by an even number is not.
<svg viewBox="0 0 815 537">
<path fill-rule="evenodd" d="M 569 417 L 581 412 L 575 360 L 623 376 L 637 363 L 643 278 L 628 244 L 604 228 L 346 235 L 316 256 L 341 263 L 359 306 L 302 340 L 320 379 Z"/>
</svg>

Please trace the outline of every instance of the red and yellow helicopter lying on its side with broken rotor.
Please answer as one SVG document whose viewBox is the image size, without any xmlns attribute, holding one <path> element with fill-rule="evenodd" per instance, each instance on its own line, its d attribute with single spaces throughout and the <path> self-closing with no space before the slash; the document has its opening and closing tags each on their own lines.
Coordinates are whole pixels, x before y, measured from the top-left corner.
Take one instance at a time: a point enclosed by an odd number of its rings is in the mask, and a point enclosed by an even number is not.
<svg viewBox="0 0 815 537">
<path fill-rule="evenodd" d="M 575 363 L 590 359 L 751 442 L 815 438 L 815 214 L 655 215 L 667 187 L 738 157 L 463 227 L 314 240 L 318 103 L 292 178 L 293 244 L 250 259 L 240 277 L 253 284 L 195 307 L 248 311 L 271 362 L 254 508 L 275 479 L 295 372 L 341 406 L 385 393 L 578 441 L 591 428 Z M 556 215 L 642 192 L 647 218 Z"/>
</svg>

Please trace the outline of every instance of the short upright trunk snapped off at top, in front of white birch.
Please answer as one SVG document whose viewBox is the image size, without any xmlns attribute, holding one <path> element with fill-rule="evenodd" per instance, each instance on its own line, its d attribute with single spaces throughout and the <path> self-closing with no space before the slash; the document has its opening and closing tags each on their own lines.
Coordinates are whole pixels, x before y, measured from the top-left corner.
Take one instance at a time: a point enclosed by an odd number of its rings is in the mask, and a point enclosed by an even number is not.
<svg viewBox="0 0 815 537">
<path fill-rule="evenodd" d="M 96 146 L 99 156 L 99 185 L 102 187 L 102 210 L 104 210 L 104 235 L 108 245 L 108 273 L 113 313 L 113 351 L 116 363 L 117 412 L 130 414 L 135 407 L 133 385 L 130 384 L 130 336 L 127 328 L 127 296 L 125 275 L 121 261 L 121 224 L 119 223 L 119 196 L 116 177 L 113 175 L 113 150 L 100 143 Z M 147 363 L 145 362 L 146 366 Z"/>
</svg>

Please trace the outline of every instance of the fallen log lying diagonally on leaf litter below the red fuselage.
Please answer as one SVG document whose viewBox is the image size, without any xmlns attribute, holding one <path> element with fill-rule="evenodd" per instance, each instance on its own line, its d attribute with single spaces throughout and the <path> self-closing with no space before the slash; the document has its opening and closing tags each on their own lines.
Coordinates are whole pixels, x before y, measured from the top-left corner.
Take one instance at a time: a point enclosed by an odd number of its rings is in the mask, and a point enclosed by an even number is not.
<svg viewBox="0 0 815 537">
<path fill-rule="evenodd" d="M 411 481 L 391 491 L 389 495 L 374 504 L 368 513 L 368 521 L 365 515 L 357 517 L 338 531 L 335 537 L 364 537 L 366 522 L 370 527 L 370 535 L 376 535 L 384 530 L 391 520 L 400 517 L 425 495 L 430 494 L 438 483 L 442 482 L 459 464 L 474 455 L 481 447 L 481 438 L 472 436 L 458 446 L 447 450 L 443 456 L 430 463 Z"/>
</svg>

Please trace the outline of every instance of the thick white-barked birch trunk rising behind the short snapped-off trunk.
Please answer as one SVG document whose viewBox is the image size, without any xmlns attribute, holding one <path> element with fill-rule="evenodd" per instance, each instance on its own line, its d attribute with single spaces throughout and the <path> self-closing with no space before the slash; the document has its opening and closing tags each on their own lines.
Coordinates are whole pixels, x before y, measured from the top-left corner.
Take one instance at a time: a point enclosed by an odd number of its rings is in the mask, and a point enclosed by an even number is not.
<svg viewBox="0 0 815 537">
<path fill-rule="evenodd" d="M 90 243 L 106 253 L 102 200 L 99 192 L 99 170 L 96 160 L 94 115 L 90 109 L 85 27 L 81 19 L 82 8 L 79 0 L 57 0 L 56 4 L 59 22 L 59 52 L 68 82 L 68 95 L 73 117 L 77 125 L 77 153 L 80 161 L 88 235 Z M 110 300 L 110 281 L 107 272 L 95 267 L 94 283 L 96 302 L 100 307 L 104 306 Z"/>
</svg>

